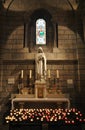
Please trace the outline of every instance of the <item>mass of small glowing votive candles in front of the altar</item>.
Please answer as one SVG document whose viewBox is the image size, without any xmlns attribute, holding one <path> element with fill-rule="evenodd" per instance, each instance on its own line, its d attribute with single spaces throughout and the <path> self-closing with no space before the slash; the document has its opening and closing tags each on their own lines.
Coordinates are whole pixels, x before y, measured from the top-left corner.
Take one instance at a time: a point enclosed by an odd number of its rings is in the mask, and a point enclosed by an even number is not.
<svg viewBox="0 0 85 130">
<path fill-rule="evenodd" d="M 85 123 L 84 115 L 77 109 L 14 109 L 10 110 L 10 114 L 5 118 L 6 123 L 9 122 L 33 122 L 47 121 L 60 122 L 66 124 Z"/>
</svg>

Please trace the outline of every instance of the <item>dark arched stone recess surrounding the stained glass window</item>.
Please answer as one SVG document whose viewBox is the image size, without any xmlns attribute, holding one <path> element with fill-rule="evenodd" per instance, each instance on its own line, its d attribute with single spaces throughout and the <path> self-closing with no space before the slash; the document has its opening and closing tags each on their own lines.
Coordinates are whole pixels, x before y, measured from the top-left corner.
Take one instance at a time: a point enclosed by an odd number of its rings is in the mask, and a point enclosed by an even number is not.
<svg viewBox="0 0 85 130">
<path fill-rule="evenodd" d="M 36 45 L 36 20 L 44 19 L 46 22 L 46 44 Z M 52 52 L 54 46 L 54 28 L 51 14 L 45 9 L 35 10 L 30 15 L 30 21 L 26 23 L 25 41 L 30 52 L 35 52 L 39 46 L 43 46 L 46 52 Z"/>
</svg>

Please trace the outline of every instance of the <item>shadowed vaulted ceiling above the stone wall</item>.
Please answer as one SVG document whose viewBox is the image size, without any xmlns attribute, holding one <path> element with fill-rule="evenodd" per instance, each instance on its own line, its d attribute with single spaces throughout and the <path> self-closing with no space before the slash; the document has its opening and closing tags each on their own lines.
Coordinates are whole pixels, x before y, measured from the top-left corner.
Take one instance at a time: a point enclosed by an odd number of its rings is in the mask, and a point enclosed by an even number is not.
<svg viewBox="0 0 85 130">
<path fill-rule="evenodd" d="M 29 11 L 40 7 L 62 10 L 77 10 L 85 5 L 84 0 L 0 0 L 2 6 L 10 11 Z"/>
</svg>

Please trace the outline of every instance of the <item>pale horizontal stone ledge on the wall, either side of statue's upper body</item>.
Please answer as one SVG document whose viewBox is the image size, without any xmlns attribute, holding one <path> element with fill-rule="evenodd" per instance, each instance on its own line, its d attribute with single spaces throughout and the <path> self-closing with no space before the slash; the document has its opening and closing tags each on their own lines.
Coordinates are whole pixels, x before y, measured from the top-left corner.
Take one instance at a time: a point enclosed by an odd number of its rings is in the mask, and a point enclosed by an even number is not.
<svg viewBox="0 0 85 130">
<path fill-rule="evenodd" d="M 76 54 L 73 53 L 46 53 L 47 61 L 57 60 L 77 60 Z M 13 53 L 4 54 L 3 60 L 35 60 L 35 53 Z"/>
</svg>

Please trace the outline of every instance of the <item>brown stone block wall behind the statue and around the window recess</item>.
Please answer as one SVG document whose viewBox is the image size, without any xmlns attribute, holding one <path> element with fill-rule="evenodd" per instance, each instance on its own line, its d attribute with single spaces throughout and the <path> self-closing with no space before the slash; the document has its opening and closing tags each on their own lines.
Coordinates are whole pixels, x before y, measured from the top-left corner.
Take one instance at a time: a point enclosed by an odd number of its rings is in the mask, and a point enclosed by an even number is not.
<svg viewBox="0 0 85 130">
<path fill-rule="evenodd" d="M 18 4 L 21 4 L 20 7 L 22 7 L 22 3 Z M 33 72 L 33 82 L 35 80 L 34 58 L 36 50 L 33 51 L 34 48 L 32 52 L 29 51 L 31 41 L 26 47 L 24 46 L 26 40 L 24 25 L 30 21 L 32 13 L 40 7 L 42 8 L 40 5 L 34 5 L 31 9 L 28 8 L 27 12 L 3 9 L 0 14 L 0 125 L 3 124 L 4 114 L 10 109 L 9 98 L 11 94 L 18 92 L 18 78 L 21 70 L 24 70 L 25 86 L 28 87 L 30 69 Z M 73 11 L 50 8 L 49 4 L 43 8 L 51 14 L 58 25 L 57 46 L 54 46 L 54 41 L 51 39 L 51 52 L 47 46 L 43 47 L 47 57 L 47 69 L 51 70 L 52 85 L 56 77 L 55 71 L 58 69 L 62 91 L 70 94 L 72 106 L 80 107 L 82 105 L 84 110 L 85 45 L 82 32 L 83 16 L 81 17 L 80 12 L 74 13 Z M 8 84 L 10 77 L 15 80 L 12 85 Z"/>
</svg>

